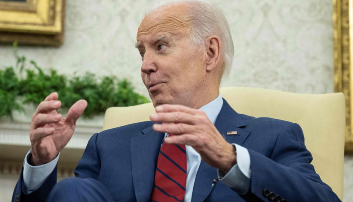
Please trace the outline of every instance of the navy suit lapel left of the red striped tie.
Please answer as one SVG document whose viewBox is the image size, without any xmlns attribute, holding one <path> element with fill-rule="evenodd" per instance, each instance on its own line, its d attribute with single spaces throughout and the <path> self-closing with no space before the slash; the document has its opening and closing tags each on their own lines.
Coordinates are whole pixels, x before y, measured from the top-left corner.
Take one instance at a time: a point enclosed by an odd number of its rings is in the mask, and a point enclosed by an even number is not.
<svg viewBox="0 0 353 202">
<path fill-rule="evenodd" d="M 136 200 L 148 201 L 163 133 L 155 132 L 152 126 L 142 130 L 142 133 L 130 140 L 131 167 Z"/>
</svg>

